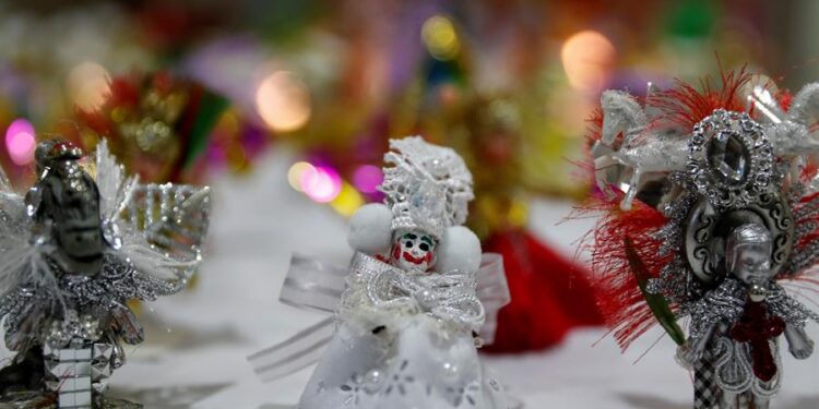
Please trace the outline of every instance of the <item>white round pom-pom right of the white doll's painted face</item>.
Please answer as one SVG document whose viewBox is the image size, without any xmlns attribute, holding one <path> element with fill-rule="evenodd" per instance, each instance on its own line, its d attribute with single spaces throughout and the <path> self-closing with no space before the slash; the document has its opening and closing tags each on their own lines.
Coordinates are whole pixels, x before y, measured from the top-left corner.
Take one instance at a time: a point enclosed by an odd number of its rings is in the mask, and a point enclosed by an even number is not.
<svg viewBox="0 0 819 409">
<path fill-rule="evenodd" d="M 472 230 L 453 226 L 443 232 L 438 243 L 436 269 L 441 273 L 458 269 L 475 273 L 480 267 L 480 240 Z"/>
</svg>

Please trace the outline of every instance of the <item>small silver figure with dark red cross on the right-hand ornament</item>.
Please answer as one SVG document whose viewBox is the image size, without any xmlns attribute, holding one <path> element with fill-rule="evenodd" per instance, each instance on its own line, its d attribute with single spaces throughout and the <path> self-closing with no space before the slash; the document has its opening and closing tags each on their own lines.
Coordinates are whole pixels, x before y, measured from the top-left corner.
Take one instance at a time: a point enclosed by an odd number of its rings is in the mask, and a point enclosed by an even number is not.
<svg viewBox="0 0 819 409">
<path fill-rule="evenodd" d="M 734 228 L 725 248 L 728 275 L 693 304 L 688 340 L 679 348 L 680 362 L 713 380 L 709 384 L 717 389 L 712 393 L 721 395 L 724 408 L 739 401 L 768 408 L 779 389 L 778 337 L 783 333 L 795 358 L 814 351 L 804 327 L 816 315 L 773 280 L 772 249 L 763 225 Z"/>
</svg>

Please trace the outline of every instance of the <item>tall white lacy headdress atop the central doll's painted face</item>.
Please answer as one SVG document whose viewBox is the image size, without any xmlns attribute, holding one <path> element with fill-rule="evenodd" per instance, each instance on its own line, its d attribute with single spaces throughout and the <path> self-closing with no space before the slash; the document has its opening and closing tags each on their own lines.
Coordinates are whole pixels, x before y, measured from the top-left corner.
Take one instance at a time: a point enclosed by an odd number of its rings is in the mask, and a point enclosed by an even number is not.
<svg viewBox="0 0 819 409">
<path fill-rule="evenodd" d="M 419 229 L 440 239 L 446 228 L 466 221 L 472 173 L 453 149 L 420 136 L 391 140 L 390 149 L 380 190 L 393 231 Z"/>
</svg>

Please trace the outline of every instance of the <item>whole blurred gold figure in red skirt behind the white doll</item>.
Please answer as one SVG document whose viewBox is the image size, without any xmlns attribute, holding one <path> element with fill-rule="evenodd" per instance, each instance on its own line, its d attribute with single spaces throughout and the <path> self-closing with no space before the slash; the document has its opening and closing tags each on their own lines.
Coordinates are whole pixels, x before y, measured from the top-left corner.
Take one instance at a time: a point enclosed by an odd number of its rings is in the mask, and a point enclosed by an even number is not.
<svg viewBox="0 0 819 409">
<path fill-rule="evenodd" d="M 443 17 L 434 19 L 427 23 L 447 24 Z M 536 98 L 498 92 L 483 95 L 470 64 L 474 56 L 460 50 L 441 58 L 435 41 L 426 39 L 426 46 L 429 56 L 417 87 L 420 92 L 407 93 L 404 103 L 417 108 L 417 118 L 397 117 L 395 122 L 401 127 L 402 121 L 415 121 L 412 131 L 431 134 L 434 141 L 455 148 L 475 176 L 476 200 L 467 226 L 486 251 L 503 256 L 511 293 L 511 302 L 499 313 L 495 342 L 484 350 L 539 350 L 558 345 L 573 328 L 603 325 L 589 270 L 526 228 L 532 192 L 568 193 L 554 185 L 544 188 L 541 181 L 548 178 L 533 177 L 548 169 L 542 163 L 556 161 L 551 158 L 556 151 L 568 151 L 562 146 L 567 143 L 543 128 L 542 112 L 526 110 L 539 107 Z"/>
</svg>

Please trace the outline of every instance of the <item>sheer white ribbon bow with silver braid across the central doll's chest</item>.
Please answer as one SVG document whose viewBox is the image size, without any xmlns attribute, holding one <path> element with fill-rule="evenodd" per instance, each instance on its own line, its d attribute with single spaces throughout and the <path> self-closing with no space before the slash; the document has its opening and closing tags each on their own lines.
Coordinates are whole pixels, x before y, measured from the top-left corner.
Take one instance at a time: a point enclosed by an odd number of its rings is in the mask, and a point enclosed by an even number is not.
<svg viewBox="0 0 819 409">
<path fill-rule="evenodd" d="M 294 254 L 280 301 L 297 308 L 333 313 L 346 288 L 347 274 L 365 280 L 376 306 L 417 306 L 419 312 L 477 330 L 485 342 L 495 338 L 498 310 L 509 300 L 509 288 L 500 254 L 484 254 L 474 275 L 411 275 L 369 255 L 356 253 L 349 268 L 330 265 Z M 289 375 L 319 360 L 335 332 L 334 317 L 301 330 L 295 336 L 261 350 L 248 360 L 264 382 Z"/>
</svg>

